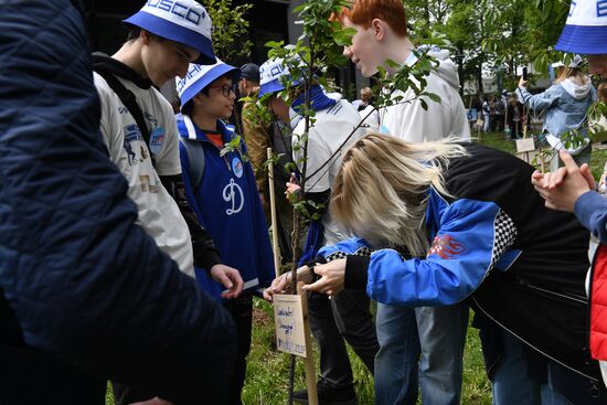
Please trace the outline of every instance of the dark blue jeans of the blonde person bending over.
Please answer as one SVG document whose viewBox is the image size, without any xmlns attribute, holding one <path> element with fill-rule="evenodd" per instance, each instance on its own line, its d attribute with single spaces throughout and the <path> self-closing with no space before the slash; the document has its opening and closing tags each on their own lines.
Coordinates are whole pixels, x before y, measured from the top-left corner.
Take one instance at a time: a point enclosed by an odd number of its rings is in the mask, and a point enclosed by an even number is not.
<svg viewBox="0 0 607 405">
<path fill-rule="evenodd" d="M 553 387 L 551 367 L 546 367 L 546 382 L 529 376 L 525 344 L 507 331 L 502 333 L 502 356 L 492 372 L 493 405 L 571 405 Z"/>
</svg>

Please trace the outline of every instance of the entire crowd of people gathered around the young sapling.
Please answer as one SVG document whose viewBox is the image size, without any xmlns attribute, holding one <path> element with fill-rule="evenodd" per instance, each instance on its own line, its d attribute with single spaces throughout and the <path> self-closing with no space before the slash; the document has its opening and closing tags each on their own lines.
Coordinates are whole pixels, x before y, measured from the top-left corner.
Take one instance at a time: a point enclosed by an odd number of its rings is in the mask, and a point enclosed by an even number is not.
<svg viewBox="0 0 607 405">
<path fill-rule="evenodd" d="M 587 114 L 607 85 L 584 57 L 545 92 L 521 77 L 465 102 L 402 1 L 353 0 L 331 17 L 354 33 L 343 55 L 390 76 L 424 49 L 440 100 L 363 87 L 351 103 L 280 58 L 219 60 L 194 0 L 173 0 L 188 14 L 148 1 L 113 55 L 90 56 L 78 3 L 0 1 L 0 403 L 104 404 L 110 381 L 116 404 L 241 405 L 254 297 L 286 292 L 275 269 L 297 258 L 321 405 L 358 404 L 345 343 L 376 404 L 459 404 L 471 313 L 493 404 L 607 403 L 607 200 L 588 166 L 607 120 Z M 594 6 L 572 7 L 556 50 L 605 75 Z M 534 136 L 550 169 L 480 131 Z M 311 219 L 294 234 L 301 200 Z"/>
</svg>

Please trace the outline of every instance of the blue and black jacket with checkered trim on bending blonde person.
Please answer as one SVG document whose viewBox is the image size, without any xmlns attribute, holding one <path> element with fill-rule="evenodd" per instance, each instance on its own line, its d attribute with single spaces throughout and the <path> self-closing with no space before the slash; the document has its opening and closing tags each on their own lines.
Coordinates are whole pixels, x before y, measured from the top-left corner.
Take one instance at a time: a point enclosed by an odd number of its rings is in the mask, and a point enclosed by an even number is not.
<svg viewBox="0 0 607 405">
<path fill-rule="evenodd" d="M 429 190 L 425 257 L 391 248 L 347 258 L 345 287 L 365 287 L 383 303 L 446 306 L 462 300 L 531 348 L 597 379 L 585 350 L 588 233 L 569 213 L 544 207 L 533 168 L 487 147 L 466 145 L 446 188 Z M 362 239 L 321 249 L 332 258 L 360 252 Z"/>
</svg>

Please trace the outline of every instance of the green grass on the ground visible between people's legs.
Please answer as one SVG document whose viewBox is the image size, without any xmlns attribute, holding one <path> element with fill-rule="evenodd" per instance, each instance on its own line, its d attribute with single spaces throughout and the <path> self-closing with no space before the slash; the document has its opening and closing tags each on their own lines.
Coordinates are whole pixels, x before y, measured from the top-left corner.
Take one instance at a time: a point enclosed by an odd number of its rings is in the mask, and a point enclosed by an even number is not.
<svg viewBox="0 0 607 405">
<path fill-rule="evenodd" d="M 482 135 L 481 143 L 513 153 L 514 141 L 505 140 L 501 134 Z M 607 150 L 593 152 L 592 168 L 595 178 L 600 177 L 607 161 Z M 263 300 L 255 300 L 253 344 L 248 356 L 247 380 L 243 391 L 246 405 L 278 405 L 287 403 L 289 356 L 277 352 L 274 347 L 274 316 L 271 306 Z M 318 353 L 315 351 L 318 369 Z M 373 404 L 373 379 L 350 350 L 354 371 L 356 392 L 361 405 Z M 296 390 L 305 386 L 303 366 L 297 361 Z M 462 404 L 491 404 L 491 387 L 484 374 L 482 353 L 478 331 L 469 328 L 464 358 Z M 108 392 L 107 405 L 114 405 Z"/>
</svg>

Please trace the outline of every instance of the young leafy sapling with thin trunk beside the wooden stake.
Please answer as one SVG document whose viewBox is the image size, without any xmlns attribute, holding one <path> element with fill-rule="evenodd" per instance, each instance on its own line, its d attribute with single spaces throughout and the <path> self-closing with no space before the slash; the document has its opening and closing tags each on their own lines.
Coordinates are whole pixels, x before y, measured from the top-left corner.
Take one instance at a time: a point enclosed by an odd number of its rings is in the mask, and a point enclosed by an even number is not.
<svg viewBox="0 0 607 405">
<path fill-rule="evenodd" d="M 306 190 L 306 182 L 315 178 L 315 175 L 322 175 L 330 169 L 330 164 L 336 161 L 341 153 L 343 153 L 348 140 L 356 132 L 364 122 L 364 118 L 356 127 L 352 128 L 350 135 L 342 142 L 342 145 L 334 151 L 323 164 L 319 168 L 315 168 L 312 173 L 308 172 L 307 157 L 308 157 L 308 136 L 310 128 L 316 121 L 315 106 L 311 104 L 311 88 L 317 83 L 320 83 L 326 88 L 330 89 L 330 83 L 327 78 L 327 74 L 331 67 L 343 65 L 347 63 L 347 58 L 343 56 L 342 50 L 344 45 L 350 45 L 352 42 L 352 35 L 355 33 L 354 29 L 343 28 L 339 21 L 332 18 L 336 14 L 340 14 L 343 7 L 350 4 L 349 0 L 318 0 L 307 1 L 297 7 L 294 12 L 299 17 L 299 21 L 302 25 L 301 36 L 294 43 L 285 45 L 283 42 L 268 42 L 266 46 L 269 47 L 269 58 L 280 58 L 283 65 L 288 68 L 289 75 L 283 76 L 281 82 L 285 86 L 283 92 L 278 93 L 278 97 L 281 97 L 288 105 L 291 105 L 298 94 L 303 97 L 303 104 L 297 107 L 297 113 L 303 120 L 303 132 L 294 132 L 292 135 L 292 149 L 300 156 L 292 164 L 289 171 L 299 169 L 299 183 L 301 190 Z M 443 45 L 444 35 L 429 32 L 424 44 Z M 427 55 L 429 49 L 426 51 L 416 51 L 418 60 L 412 66 L 401 66 L 394 61 L 386 61 L 394 73 L 390 76 L 386 75 L 385 70 L 380 68 L 377 77 L 377 84 L 381 87 L 390 89 L 400 89 L 406 92 L 412 89 L 413 96 L 408 99 L 390 97 L 388 93 L 379 93 L 375 107 L 383 107 L 395 103 L 411 103 L 417 97 L 425 96 L 427 103 L 440 103 L 440 98 L 437 95 L 425 92 L 426 79 L 430 71 L 434 68 L 436 61 Z M 267 97 L 263 97 L 258 103 L 265 103 Z M 426 102 L 422 99 L 422 105 L 427 108 Z M 320 207 L 313 201 L 307 200 L 303 192 L 297 194 L 290 194 L 289 201 L 294 206 L 294 235 L 299 235 L 300 230 L 303 228 L 303 220 L 319 220 L 320 217 L 310 213 Z M 318 215 L 318 214 L 317 214 Z M 291 252 L 292 252 L 292 266 L 291 266 L 291 279 L 297 279 L 297 262 L 299 258 L 297 237 L 292 238 Z M 291 294 L 295 294 L 295 283 L 291 284 Z M 292 403 L 292 382 L 295 373 L 295 356 L 291 356 L 290 372 L 289 372 L 289 404 Z"/>
</svg>

